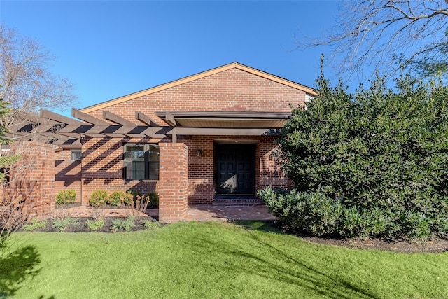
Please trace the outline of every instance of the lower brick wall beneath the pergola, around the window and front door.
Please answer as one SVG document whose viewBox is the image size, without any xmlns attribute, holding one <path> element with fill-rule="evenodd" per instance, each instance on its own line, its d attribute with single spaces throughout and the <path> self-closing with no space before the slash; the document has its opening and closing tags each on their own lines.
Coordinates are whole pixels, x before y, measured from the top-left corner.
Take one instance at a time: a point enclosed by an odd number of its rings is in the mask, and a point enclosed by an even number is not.
<svg viewBox="0 0 448 299">
<path fill-rule="evenodd" d="M 255 150 L 255 189 L 266 186 L 286 188 L 288 180 L 281 172 L 279 165 L 272 159 L 276 147 L 275 137 L 262 136 L 193 136 L 179 138 L 188 146 L 188 202 L 190 204 L 211 203 L 216 193 L 216 139 L 251 140 L 256 141 Z M 123 143 L 137 142 L 136 139 L 85 139 L 83 141 L 83 204 L 95 190 L 158 190 L 159 181 L 125 181 L 123 180 Z M 152 140 L 140 140 L 151 143 Z M 244 142 L 244 141 L 243 141 Z M 201 157 L 197 151 L 201 150 Z M 163 148 L 160 148 L 162 155 Z M 163 162 L 160 161 L 162 167 Z"/>
</svg>

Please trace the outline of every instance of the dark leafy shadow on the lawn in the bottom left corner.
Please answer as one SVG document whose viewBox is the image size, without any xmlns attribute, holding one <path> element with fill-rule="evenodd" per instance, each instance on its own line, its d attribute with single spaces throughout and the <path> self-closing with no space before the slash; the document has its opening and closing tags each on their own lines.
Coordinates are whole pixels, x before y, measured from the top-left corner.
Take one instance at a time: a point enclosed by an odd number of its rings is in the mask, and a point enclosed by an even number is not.
<svg viewBox="0 0 448 299">
<path fill-rule="evenodd" d="M 4 257 L 0 255 L 0 298 L 14 296 L 26 279 L 41 272 L 40 263 L 34 246 L 24 246 Z"/>
</svg>

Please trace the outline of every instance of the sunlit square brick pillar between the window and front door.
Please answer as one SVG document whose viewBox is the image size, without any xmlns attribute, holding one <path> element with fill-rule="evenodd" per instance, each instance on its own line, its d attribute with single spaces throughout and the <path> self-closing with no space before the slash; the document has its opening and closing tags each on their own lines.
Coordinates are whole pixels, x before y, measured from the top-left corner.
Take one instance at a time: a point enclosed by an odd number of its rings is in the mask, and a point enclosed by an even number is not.
<svg viewBox="0 0 448 299">
<path fill-rule="evenodd" d="M 181 143 L 159 146 L 159 221 L 181 221 L 188 207 L 188 146 Z"/>
</svg>

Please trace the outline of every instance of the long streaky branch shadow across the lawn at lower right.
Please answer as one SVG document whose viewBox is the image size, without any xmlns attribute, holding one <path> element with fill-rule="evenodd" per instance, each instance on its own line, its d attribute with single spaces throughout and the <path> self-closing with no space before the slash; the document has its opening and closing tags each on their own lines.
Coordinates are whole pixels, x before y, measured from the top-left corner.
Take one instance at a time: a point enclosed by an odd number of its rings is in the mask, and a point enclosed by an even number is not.
<svg viewBox="0 0 448 299">
<path fill-rule="evenodd" d="M 251 225 L 250 221 L 241 221 L 246 228 L 253 228 L 263 232 L 277 232 L 281 230 L 273 228 L 269 223 L 262 225 L 262 221 L 255 221 Z M 258 224 L 257 224 L 258 223 Z M 237 223 L 238 224 L 238 223 Z M 255 227 L 253 227 L 255 225 Z M 379 298 L 368 289 L 356 286 L 342 277 L 334 277 L 332 274 L 321 272 L 304 260 L 298 260 L 292 254 L 284 251 L 281 245 L 265 242 L 259 235 L 251 234 L 251 241 L 248 244 L 232 242 L 230 239 L 213 239 L 210 236 L 197 235 L 190 242 L 195 250 L 202 249 L 207 256 L 224 255 L 229 259 L 238 256 L 247 260 L 247 263 L 226 263 L 219 265 L 225 272 L 235 273 L 235 275 L 250 274 L 282 283 L 292 284 L 305 288 L 314 295 L 328 298 Z M 262 250 L 257 250 L 262 248 Z M 266 249 L 269 254 L 266 254 Z M 210 259 L 214 263 L 214 258 Z M 241 262 L 241 259 L 239 259 Z M 323 260 L 322 263 L 325 263 Z M 325 267 L 323 267 L 325 268 Z M 311 295 L 310 293 L 310 295 Z M 285 294 L 288 297 L 288 294 Z M 293 294 L 291 294 L 293 295 Z"/>
</svg>

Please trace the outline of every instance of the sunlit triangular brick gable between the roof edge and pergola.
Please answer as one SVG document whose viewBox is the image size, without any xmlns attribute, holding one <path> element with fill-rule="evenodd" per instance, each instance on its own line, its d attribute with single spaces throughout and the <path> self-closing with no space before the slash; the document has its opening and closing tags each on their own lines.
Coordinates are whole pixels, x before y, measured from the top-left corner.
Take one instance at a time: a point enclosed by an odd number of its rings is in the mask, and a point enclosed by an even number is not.
<svg viewBox="0 0 448 299">
<path fill-rule="evenodd" d="M 156 111 L 269 111 L 290 112 L 289 104 L 303 104 L 305 93 L 240 69 L 200 78 L 190 83 L 155 92 L 107 107 L 107 111 L 138 123 L 142 111 L 160 125 L 167 125 Z M 89 113 L 102 118 L 102 110 Z"/>
</svg>

